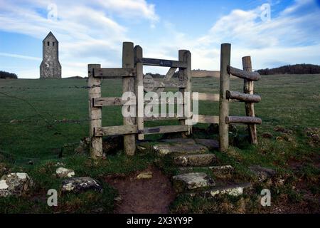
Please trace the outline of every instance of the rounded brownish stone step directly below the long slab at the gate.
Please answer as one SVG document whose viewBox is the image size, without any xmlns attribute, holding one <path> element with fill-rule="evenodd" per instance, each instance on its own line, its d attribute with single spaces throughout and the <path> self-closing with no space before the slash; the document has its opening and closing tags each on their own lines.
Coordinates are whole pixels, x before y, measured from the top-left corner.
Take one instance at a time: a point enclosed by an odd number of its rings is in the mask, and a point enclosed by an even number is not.
<svg viewBox="0 0 320 228">
<path fill-rule="evenodd" d="M 213 154 L 180 155 L 174 157 L 174 164 L 180 166 L 206 166 L 216 160 Z"/>
</svg>

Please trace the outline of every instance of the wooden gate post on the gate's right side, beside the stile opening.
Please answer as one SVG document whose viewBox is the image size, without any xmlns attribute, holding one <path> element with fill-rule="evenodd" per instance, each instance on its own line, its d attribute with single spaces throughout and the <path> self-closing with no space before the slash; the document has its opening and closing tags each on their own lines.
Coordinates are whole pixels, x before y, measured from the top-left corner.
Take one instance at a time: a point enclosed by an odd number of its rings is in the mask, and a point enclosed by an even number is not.
<svg viewBox="0 0 320 228">
<path fill-rule="evenodd" d="M 189 105 L 188 105 L 188 112 L 191 113 L 191 105 L 192 105 L 192 93 L 191 93 L 191 52 L 188 50 L 179 50 L 178 51 L 178 60 L 181 62 L 187 63 L 186 68 L 179 68 L 179 81 L 186 82 L 186 88 L 179 89 L 181 93 L 183 93 L 183 101 L 184 101 L 184 92 L 190 93 Z M 184 102 L 183 102 L 184 103 Z M 184 112 L 183 106 L 183 113 L 186 115 L 187 113 Z M 188 117 L 188 119 L 192 119 Z M 186 120 L 179 120 L 181 125 L 186 125 Z M 190 135 L 192 133 L 192 125 L 188 125 L 188 133 Z"/>
</svg>

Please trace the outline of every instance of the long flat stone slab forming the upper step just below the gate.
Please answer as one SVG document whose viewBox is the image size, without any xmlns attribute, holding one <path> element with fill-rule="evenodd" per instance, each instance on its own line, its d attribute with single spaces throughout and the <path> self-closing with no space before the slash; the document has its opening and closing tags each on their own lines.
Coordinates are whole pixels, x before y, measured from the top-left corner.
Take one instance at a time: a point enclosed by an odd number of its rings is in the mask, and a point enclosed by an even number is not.
<svg viewBox="0 0 320 228">
<path fill-rule="evenodd" d="M 154 152 L 158 155 L 169 155 L 173 153 L 178 154 L 203 154 L 208 152 L 208 148 L 203 145 L 198 144 L 182 144 L 175 143 L 173 145 L 170 144 L 158 144 L 153 146 Z"/>
</svg>

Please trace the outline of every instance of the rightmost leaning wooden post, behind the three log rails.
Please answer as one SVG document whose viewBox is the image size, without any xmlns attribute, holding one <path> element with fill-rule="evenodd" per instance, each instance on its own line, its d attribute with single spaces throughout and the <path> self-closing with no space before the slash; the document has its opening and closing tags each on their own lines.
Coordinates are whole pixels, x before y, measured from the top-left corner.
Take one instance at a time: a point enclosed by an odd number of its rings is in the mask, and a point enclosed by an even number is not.
<svg viewBox="0 0 320 228">
<path fill-rule="evenodd" d="M 251 63 L 251 57 L 245 56 L 242 58 L 242 67 L 243 71 L 252 72 L 252 63 Z M 250 80 L 244 80 L 245 83 L 243 85 L 243 93 L 247 94 L 253 94 L 254 93 L 254 86 L 253 81 Z M 247 116 L 255 117 L 255 105 L 254 103 L 245 102 L 245 113 Z M 249 135 L 250 135 L 250 141 L 252 144 L 257 144 L 257 128 L 255 124 L 249 124 L 247 125 Z"/>
</svg>

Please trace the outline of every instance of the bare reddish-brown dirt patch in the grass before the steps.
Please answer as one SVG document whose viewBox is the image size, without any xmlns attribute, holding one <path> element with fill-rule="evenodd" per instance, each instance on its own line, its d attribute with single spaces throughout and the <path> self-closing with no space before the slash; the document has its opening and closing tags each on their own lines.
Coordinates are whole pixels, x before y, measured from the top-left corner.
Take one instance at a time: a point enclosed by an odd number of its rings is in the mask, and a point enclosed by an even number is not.
<svg viewBox="0 0 320 228">
<path fill-rule="evenodd" d="M 146 171 L 152 172 L 151 179 L 137 180 L 134 173 L 127 177 L 106 177 L 106 182 L 119 191 L 121 200 L 117 203 L 115 213 L 168 213 L 169 205 L 176 197 L 168 177 L 155 167 Z"/>
</svg>

